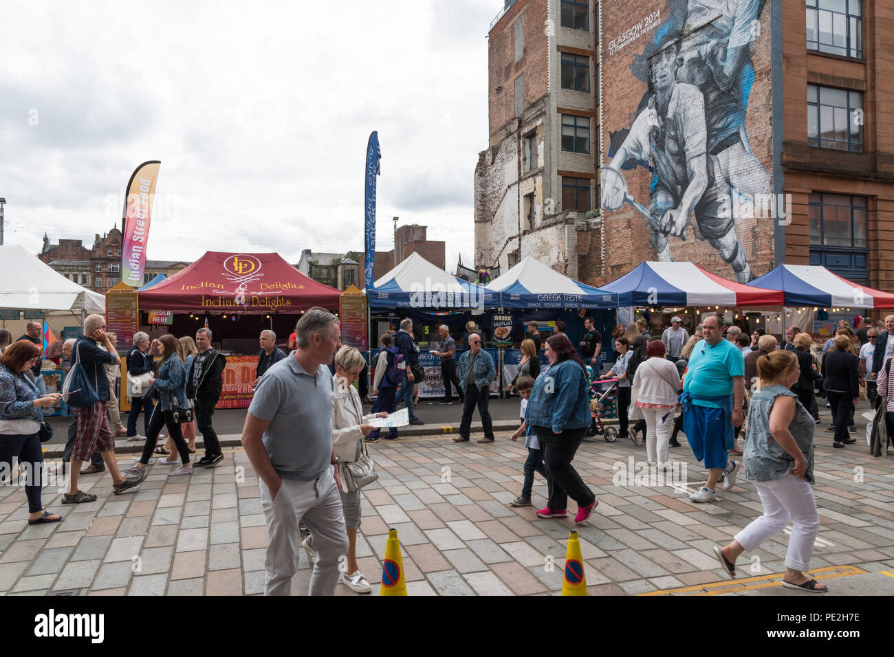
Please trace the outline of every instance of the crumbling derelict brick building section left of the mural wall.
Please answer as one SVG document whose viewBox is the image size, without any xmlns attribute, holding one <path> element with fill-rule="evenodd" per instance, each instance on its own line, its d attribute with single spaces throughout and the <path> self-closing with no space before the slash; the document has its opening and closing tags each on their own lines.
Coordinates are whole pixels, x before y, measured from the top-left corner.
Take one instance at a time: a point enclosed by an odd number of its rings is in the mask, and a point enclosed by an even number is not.
<svg viewBox="0 0 894 657">
<path fill-rule="evenodd" d="M 596 16 L 586 0 L 508 0 L 488 40 L 489 147 L 475 169 L 477 266 L 533 255 L 578 276 L 598 223 Z"/>
</svg>

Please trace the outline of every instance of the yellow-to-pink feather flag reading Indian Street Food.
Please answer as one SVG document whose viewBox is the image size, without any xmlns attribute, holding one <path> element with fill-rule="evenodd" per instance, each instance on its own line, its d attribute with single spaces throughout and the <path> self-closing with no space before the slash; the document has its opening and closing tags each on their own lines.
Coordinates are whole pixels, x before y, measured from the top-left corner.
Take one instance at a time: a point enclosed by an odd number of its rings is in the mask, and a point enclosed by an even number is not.
<svg viewBox="0 0 894 657">
<path fill-rule="evenodd" d="M 140 164 L 131 175 L 124 195 L 122 216 L 121 280 L 132 288 L 143 284 L 146 269 L 146 245 L 149 240 L 149 221 L 156 196 L 158 160 Z"/>
</svg>

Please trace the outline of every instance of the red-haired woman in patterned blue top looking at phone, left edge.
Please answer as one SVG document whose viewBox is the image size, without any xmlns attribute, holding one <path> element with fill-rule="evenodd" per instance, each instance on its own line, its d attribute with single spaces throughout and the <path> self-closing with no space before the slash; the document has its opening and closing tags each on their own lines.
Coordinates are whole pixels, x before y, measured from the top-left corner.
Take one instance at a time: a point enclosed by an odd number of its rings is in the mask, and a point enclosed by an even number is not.
<svg viewBox="0 0 894 657">
<path fill-rule="evenodd" d="M 61 516 L 44 510 L 40 501 L 43 487 L 43 451 L 40 449 L 40 409 L 48 409 L 59 394 L 38 395 L 38 386 L 27 378 L 30 366 L 40 358 L 40 349 L 27 340 L 13 342 L 0 358 L 0 484 L 12 476 L 13 458 L 19 460 L 28 497 L 28 524 L 59 522 Z"/>
</svg>

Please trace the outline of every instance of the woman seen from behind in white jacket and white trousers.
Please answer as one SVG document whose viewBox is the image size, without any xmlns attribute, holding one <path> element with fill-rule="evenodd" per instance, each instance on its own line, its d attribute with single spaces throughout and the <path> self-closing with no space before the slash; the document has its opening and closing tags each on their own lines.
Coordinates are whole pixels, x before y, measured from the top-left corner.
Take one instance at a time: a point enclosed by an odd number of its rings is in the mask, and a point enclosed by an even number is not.
<svg viewBox="0 0 894 657">
<path fill-rule="evenodd" d="M 633 377 L 633 395 L 637 400 L 637 413 L 645 419 L 645 459 L 650 466 L 656 461 L 662 470 L 667 467 L 668 443 L 673 431 L 671 413 L 677 406 L 679 372 L 670 360 L 664 358 L 664 343 L 651 340 L 645 347 L 648 359 L 637 367 Z M 662 424 L 662 417 L 668 416 Z"/>
</svg>

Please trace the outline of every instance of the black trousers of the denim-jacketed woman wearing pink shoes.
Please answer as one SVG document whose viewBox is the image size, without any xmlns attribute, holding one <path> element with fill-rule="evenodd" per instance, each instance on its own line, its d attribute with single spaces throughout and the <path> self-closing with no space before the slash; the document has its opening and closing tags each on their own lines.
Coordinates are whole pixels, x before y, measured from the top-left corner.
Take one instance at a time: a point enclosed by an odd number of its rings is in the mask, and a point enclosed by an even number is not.
<svg viewBox="0 0 894 657">
<path fill-rule="evenodd" d="M 578 507 L 592 504 L 596 499 L 595 494 L 571 465 L 586 435 L 586 426 L 582 429 L 566 429 L 561 434 L 553 434 L 552 428 L 548 426 L 533 428 L 546 465 L 546 486 L 549 490 L 546 506 L 554 511 L 567 510 L 569 496 L 578 503 Z"/>
</svg>

